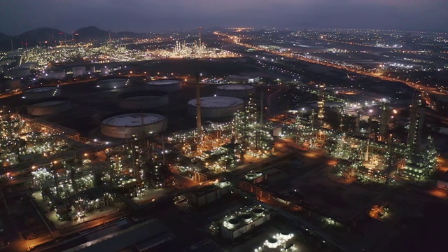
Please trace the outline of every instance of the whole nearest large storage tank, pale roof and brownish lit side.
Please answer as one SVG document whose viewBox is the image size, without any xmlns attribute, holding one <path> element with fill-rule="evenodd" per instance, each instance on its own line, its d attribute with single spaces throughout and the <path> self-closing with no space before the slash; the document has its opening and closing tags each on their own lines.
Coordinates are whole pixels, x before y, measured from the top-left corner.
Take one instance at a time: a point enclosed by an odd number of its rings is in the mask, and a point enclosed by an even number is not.
<svg viewBox="0 0 448 252">
<path fill-rule="evenodd" d="M 155 113 L 126 113 L 107 118 L 101 123 L 101 132 L 107 137 L 130 138 L 162 132 L 167 128 L 167 118 Z"/>
</svg>

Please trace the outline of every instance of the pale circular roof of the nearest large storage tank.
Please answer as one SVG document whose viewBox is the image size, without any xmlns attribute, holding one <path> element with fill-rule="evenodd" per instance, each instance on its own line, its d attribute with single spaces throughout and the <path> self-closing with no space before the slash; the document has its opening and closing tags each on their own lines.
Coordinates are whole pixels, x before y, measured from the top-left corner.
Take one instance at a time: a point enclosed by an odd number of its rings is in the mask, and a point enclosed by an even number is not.
<svg viewBox="0 0 448 252">
<path fill-rule="evenodd" d="M 149 125 L 164 120 L 165 116 L 155 113 L 127 113 L 107 118 L 102 121 L 102 124 L 117 127 L 141 126 L 142 118 L 143 125 Z"/>
</svg>

